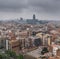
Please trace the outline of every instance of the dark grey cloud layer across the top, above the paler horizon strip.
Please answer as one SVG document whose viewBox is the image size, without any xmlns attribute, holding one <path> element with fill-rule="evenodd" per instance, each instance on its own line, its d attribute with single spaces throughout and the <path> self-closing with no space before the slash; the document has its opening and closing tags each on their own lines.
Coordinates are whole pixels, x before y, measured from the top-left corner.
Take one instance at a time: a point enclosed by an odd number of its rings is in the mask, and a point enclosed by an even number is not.
<svg viewBox="0 0 60 59">
<path fill-rule="evenodd" d="M 60 0 L 0 0 L 0 11 L 60 12 Z"/>
</svg>

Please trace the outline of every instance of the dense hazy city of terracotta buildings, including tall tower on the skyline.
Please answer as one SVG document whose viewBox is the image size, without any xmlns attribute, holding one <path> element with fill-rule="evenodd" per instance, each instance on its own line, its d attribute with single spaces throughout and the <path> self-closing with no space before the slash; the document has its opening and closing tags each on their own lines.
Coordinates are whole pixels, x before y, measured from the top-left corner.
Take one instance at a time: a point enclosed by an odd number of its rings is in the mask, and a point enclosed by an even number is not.
<svg viewBox="0 0 60 59">
<path fill-rule="evenodd" d="M 0 59 L 60 59 L 60 22 L 0 21 Z"/>
</svg>

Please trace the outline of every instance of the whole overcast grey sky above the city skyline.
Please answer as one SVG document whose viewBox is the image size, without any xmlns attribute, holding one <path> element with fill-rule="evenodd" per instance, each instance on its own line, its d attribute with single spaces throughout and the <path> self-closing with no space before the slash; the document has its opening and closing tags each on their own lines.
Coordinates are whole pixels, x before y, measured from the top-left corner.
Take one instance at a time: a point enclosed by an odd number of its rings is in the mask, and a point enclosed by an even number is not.
<svg viewBox="0 0 60 59">
<path fill-rule="evenodd" d="M 60 20 L 60 0 L 0 0 L 0 19 Z"/>
</svg>

